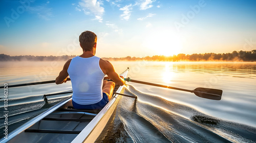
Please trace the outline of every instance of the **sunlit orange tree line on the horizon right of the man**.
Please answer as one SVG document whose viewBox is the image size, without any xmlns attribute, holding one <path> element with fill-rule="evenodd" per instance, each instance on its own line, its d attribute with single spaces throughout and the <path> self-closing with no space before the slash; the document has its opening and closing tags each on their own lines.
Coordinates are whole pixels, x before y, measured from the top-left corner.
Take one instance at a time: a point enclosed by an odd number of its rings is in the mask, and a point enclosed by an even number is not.
<svg viewBox="0 0 256 143">
<path fill-rule="evenodd" d="M 127 56 L 124 58 L 103 58 L 110 61 L 137 61 L 137 60 L 147 60 L 147 61 L 256 61 L 256 50 L 252 51 L 233 51 L 232 53 L 205 53 L 205 54 L 178 54 L 173 56 L 146 56 L 143 58 Z"/>
</svg>

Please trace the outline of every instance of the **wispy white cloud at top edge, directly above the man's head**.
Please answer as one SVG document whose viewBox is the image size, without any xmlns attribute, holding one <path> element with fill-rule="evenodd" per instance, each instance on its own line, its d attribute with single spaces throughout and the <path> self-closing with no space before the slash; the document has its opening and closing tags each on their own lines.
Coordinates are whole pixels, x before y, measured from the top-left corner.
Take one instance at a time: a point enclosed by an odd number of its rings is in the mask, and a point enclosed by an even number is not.
<svg viewBox="0 0 256 143">
<path fill-rule="evenodd" d="M 103 3 L 101 1 L 97 2 L 97 0 L 81 0 L 79 2 L 79 6 L 82 8 L 84 14 L 93 13 L 95 15 L 95 20 L 102 22 L 102 15 L 104 14 L 104 8 L 101 7 Z M 90 12 L 88 12 L 88 10 Z"/>
</svg>

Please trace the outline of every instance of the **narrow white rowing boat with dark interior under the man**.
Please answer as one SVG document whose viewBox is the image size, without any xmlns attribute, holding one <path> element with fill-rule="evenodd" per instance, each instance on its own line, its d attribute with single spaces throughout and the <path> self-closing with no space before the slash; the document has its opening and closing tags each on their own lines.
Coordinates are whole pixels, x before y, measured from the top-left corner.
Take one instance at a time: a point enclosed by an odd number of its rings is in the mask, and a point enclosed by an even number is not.
<svg viewBox="0 0 256 143">
<path fill-rule="evenodd" d="M 129 68 L 120 76 L 127 77 Z M 124 86 L 116 86 L 115 92 Z M 69 107 L 72 98 L 62 101 L 11 132 L 0 142 L 95 142 L 112 116 L 121 96 L 113 94 L 102 110 Z"/>
</svg>

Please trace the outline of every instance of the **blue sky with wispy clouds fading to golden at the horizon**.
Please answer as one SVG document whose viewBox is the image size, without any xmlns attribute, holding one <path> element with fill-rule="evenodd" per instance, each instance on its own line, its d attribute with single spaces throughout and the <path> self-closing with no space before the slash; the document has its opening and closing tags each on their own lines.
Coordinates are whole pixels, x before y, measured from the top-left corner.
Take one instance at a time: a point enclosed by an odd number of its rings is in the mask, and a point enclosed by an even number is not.
<svg viewBox="0 0 256 143">
<path fill-rule="evenodd" d="M 0 1 L 0 54 L 98 57 L 232 53 L 256 49 L 256 0 Z"/>
</svg>

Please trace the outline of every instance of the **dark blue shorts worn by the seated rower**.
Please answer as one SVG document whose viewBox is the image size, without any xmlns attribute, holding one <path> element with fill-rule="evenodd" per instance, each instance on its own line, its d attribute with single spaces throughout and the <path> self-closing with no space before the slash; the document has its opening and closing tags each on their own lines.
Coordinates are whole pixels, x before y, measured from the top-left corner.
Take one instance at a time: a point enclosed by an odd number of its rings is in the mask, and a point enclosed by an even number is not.
<svg viewBox="0 0 256 143">
<path fill-rule="evenodd" d="M 81 105 L 77 104 L 72 100 L 73 107 L 75 109 L 102 109 L 107 103 L 109 103 L 109 97 L 106 93 L 103 92 L 103 98 L 101 101 L 90 104 L 90 105 Z"/>
</svg>

